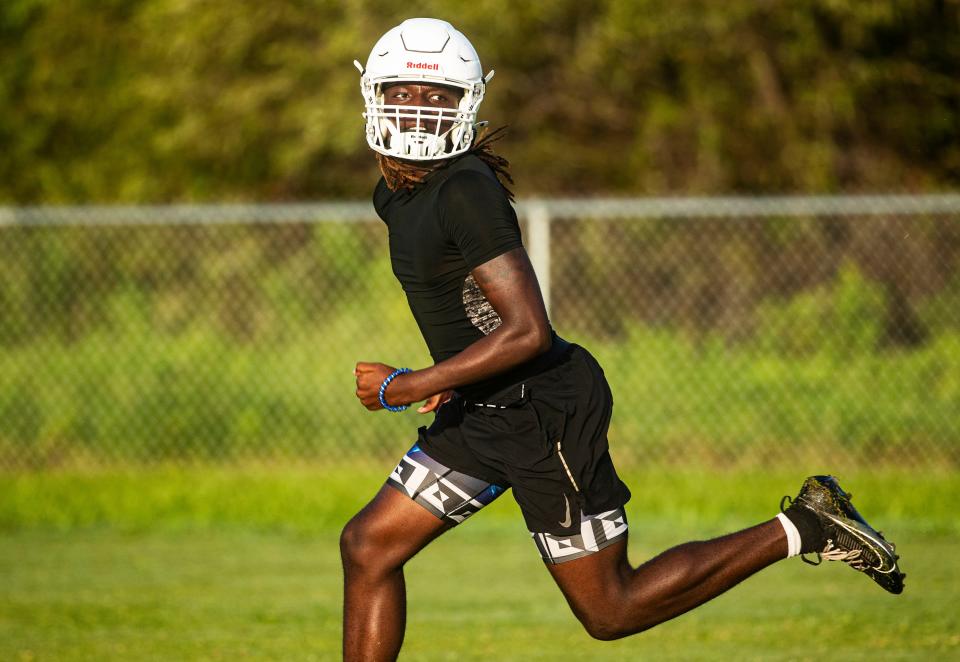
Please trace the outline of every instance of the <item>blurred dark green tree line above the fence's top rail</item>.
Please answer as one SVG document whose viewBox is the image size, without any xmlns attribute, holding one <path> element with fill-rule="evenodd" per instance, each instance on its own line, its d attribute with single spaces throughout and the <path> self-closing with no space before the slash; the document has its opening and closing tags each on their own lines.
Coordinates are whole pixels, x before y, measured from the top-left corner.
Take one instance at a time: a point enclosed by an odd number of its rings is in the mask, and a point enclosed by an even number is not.
<svg viewBox="0 0 960 662">
<path fill-rule="evenodd" d="M 421 3 L 498 71 L 521 195 L 958 184 L 956 3 Z M 395 0 L 0 6 L 0 201 L 366 197 Z"/>
</svg>

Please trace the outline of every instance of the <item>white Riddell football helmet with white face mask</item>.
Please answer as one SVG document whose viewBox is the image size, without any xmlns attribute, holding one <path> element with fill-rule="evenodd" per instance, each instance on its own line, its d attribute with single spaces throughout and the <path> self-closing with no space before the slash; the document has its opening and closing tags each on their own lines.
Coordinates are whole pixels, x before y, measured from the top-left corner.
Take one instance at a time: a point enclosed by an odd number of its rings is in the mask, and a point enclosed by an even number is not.
<svg viewBox="0 0 960 662">
<path fill-rule="evenodd" d="M 400 159 L 432 161 L 470 149 L 477 126 L 477 109 L 487 82 L 480 57 L 470 41 L 446 21 L 411 18 L 380 38 L 364 68 L 360 91 L 366 112 L 367 144 Z M 389 83 L 447 85 L 463 90 L 459 106 L 385 105 L 383 87 Z"/>
</svg>

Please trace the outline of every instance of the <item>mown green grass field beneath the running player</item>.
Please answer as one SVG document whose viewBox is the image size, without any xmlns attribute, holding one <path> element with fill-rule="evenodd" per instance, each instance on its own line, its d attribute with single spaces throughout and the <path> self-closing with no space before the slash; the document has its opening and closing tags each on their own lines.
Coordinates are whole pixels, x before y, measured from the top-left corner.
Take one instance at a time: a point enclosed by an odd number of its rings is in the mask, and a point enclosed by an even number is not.
<svg viewBox="0 0 960 662">
<path fill-rule="evenodd" d="M 0 659 L 339 656 L 339 528 L 379 472 L 188 469 L 0 479 Z M 406 660 L 960 656 L 960 476 L 845 476 L 898 543 L 891 596 L 794 559 L 626 640 L 590 639 L 500 499 L 408 566 Z M 773 514 L 789 472 L 629 476 L 634 561 Z"/>
</svg>

